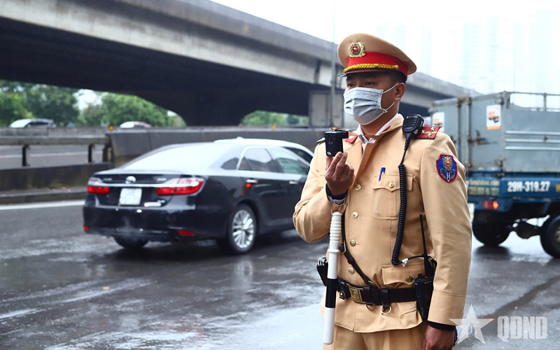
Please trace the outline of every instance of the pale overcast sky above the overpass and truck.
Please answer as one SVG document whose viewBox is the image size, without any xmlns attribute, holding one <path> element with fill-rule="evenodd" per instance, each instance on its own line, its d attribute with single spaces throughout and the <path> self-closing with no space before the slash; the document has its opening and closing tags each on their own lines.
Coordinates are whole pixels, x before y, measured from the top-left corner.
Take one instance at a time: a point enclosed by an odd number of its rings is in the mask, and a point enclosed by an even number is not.
<svg viewBox="0 0 560 350">
<path fill-rule="evenodd" d="M 478 92 L 560 94 L 558 0 L 211 1 L 335 43 L 356 32 L 381 36 L 418 71 Z M 527 68 L 535 65 L 550 69 L 533 72 L 528 83 Z"/>
</svg>

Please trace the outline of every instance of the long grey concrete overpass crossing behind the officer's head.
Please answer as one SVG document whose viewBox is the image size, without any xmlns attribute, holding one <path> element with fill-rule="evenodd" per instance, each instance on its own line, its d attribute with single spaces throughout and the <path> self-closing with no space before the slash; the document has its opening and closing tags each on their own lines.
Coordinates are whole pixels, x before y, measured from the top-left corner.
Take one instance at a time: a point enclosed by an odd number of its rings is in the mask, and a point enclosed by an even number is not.
<svg viewBox="0 0 560 350">
<path fill-rule="evenodd" d="M 0 78 L 136 94 L 188 125 L 308 115 L 309 92 L 330 87 L 333 45 L 207 0 L 0 2 Z M 422 73 L 407 87 L 403 113 L 471 93 Z"/>
</svg>

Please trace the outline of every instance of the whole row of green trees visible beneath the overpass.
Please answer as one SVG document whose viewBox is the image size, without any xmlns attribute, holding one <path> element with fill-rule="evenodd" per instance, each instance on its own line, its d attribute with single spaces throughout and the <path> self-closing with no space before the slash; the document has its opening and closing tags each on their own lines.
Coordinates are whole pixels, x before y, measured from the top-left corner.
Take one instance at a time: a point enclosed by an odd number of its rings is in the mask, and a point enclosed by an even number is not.
<svg viewBox="0 0 560 350">
<path fill-rule="evenodd" d="M 57 126 L 114 127 L 140 121 L 160 127 L 184 127 L 183 118 L 137 96 L 98 93 L 101 101 L 77 108 L 78 90 L 52 85 L 0 80 L 0 127 L 24 118 L 45 118 Z M 285 113 L 254 111 L 241 125 L 309 125 L 309 118 Z"/>
</svg>

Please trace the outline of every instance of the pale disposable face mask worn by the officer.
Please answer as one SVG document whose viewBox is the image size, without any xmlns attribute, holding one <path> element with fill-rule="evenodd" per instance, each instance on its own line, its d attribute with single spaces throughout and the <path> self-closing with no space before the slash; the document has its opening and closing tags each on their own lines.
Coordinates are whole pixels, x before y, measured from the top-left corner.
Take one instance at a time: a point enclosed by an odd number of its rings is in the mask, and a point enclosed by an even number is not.
<svg viewBox="0 0 560 350">
<path fill-rule="evenodd" d="M 393 87 L 398 84 L 393 85 Z M 391 91 L 393 89 L 388 89 Z M 369 87 L 354 87 L 353 89 L 344 92 L 344 112 L 354 117 L 354 120 L 360 125 L 367 125 L 372 123 L 377 118 L 387 113 L 387 109 L 381 107 L 381 96 L 387 91 L 370 89 Z"/>
</svg>

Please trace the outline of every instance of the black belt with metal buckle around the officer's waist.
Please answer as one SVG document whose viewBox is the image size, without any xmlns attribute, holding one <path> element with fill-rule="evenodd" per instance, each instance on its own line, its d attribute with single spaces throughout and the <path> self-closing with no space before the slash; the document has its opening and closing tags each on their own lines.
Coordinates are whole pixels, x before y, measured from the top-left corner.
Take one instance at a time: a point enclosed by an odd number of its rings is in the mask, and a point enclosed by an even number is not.
<svg viewBox="0 0 560 350">
<path fill-rule="evenodd" d="M 416 288 L 384 288 L 376 286 L 356 286 L 344 279 L 338 279 L 337 290 L 341 299 L 351 299 L 359 304 L 383 305 L 388 309 L 392 302 L 416 301 Z"/>
</svg>

